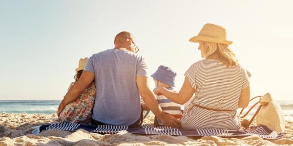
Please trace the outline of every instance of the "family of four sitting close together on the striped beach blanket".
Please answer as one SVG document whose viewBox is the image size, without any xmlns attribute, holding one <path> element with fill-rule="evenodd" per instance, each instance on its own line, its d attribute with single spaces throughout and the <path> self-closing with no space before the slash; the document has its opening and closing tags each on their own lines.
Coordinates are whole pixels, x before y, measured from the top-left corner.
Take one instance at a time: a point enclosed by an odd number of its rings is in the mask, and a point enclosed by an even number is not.
<svg viewBox="0 0 293 146">
<path fill-rule="evenodd" d="M 155 126 L 240 129 L 236 110 L 248 106 L 250 73 L 230 50 L 226 29 L 205 24 L 189 41 L 199 43 L 204 59 L 186 71 L 181 90 L 173 89 L 176 73 L 162 65 L 151 75 L 156 86 L 151 91 L 133 36 L 119 33 L 114 49 L 80 59 L 76 81 L 58 108 L 59 122 L 135 127 L 151 110 Z"/>
</svg>

